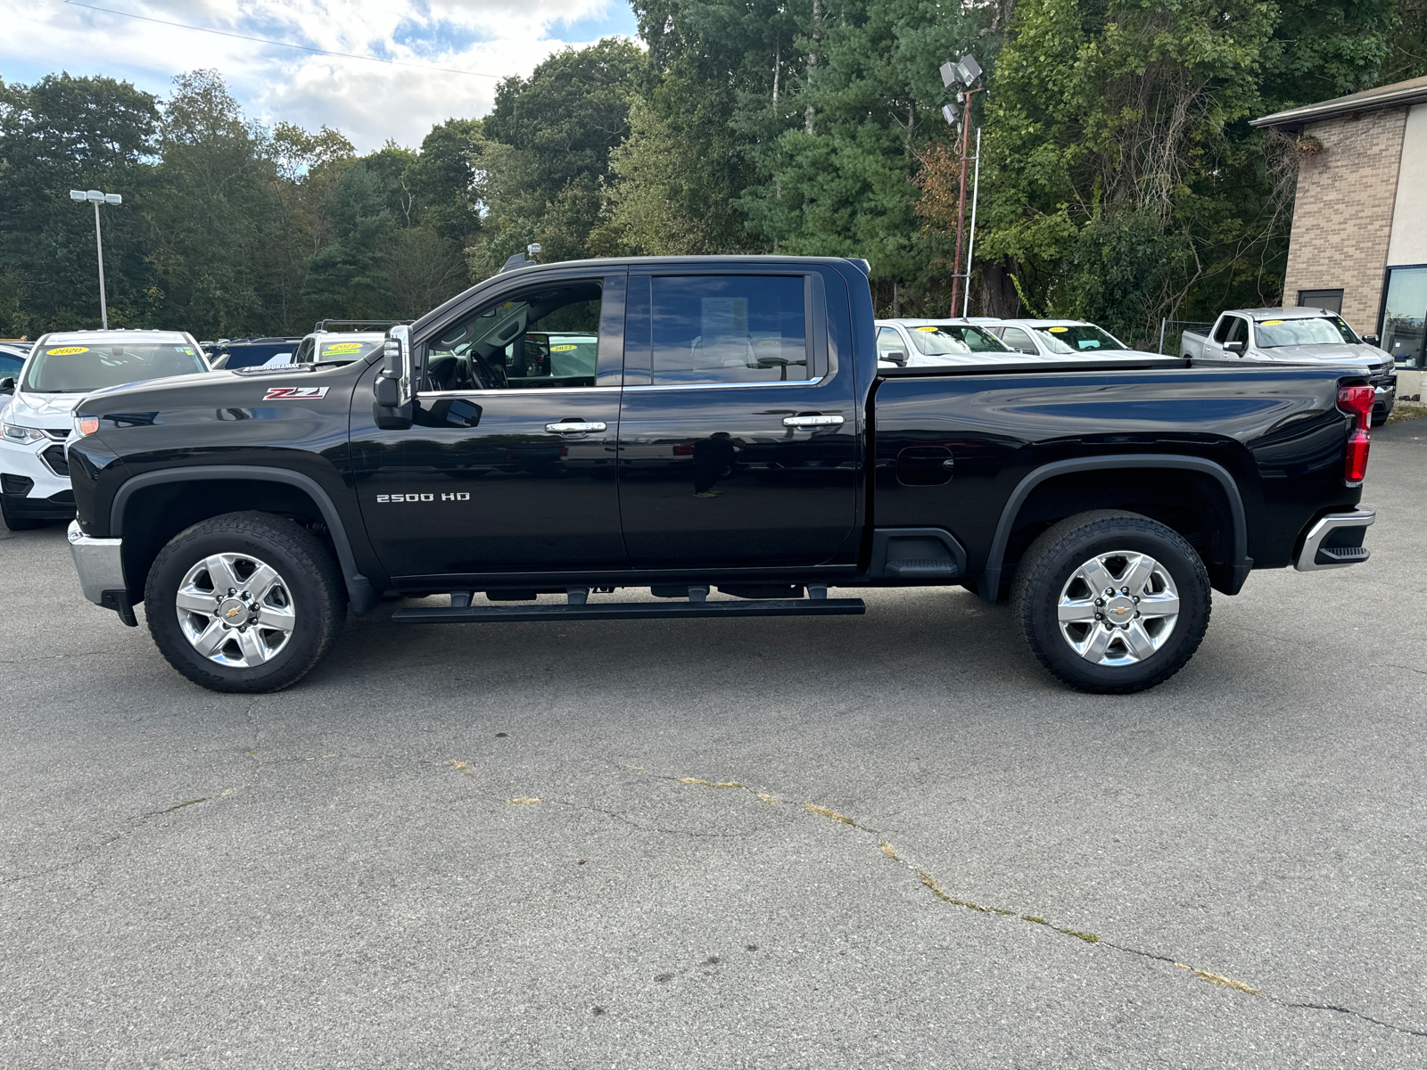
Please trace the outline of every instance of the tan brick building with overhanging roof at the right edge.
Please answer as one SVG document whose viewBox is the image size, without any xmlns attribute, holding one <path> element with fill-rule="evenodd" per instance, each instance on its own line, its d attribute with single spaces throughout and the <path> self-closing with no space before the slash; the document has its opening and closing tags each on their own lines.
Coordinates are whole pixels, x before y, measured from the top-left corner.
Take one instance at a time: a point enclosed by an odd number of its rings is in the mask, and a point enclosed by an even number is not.
<svg viewBox="0 0 1427 1070">
<path fill-rule="evenodd" d="M 1378 334 L 1421 392 L 1427 368 L 1427 77 L 1253 120 L 1297 140 L 1283 304 Z M 1414 374 L 1414 370 L 1416 374 Z"/>
</svg>

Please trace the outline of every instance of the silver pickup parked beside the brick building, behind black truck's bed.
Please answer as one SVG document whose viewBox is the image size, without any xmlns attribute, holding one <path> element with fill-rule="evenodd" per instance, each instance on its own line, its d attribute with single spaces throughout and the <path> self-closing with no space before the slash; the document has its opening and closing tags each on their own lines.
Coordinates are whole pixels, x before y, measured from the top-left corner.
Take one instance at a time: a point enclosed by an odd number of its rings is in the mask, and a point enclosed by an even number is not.
<svg viewBox="0 0 1427 1070">
<path fill-rule="evenodd" d="M 1209 331 L 1184 331 L 1180 354 L 1186 360 L 1367 365 L 1373 424 L 1381 424 L 1397 401 L 1397 372 L 1377 342 L 1376 334 L 1359 337 L 1329 308 L 1234 308 L 1220 312 Z"/>
</svg>

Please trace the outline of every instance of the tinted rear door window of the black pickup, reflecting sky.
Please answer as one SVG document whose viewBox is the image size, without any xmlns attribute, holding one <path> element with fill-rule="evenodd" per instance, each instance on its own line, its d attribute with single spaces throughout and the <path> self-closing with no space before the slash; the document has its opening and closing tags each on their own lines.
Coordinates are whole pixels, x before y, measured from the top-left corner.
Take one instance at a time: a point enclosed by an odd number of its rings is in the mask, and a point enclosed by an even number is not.
<svg viewBox="0 0 1427 1070">
<path fill-rule="evenodd" d="M 654 382 L 813 378 L 802 275 L 655 275 Z"/>
</svg>

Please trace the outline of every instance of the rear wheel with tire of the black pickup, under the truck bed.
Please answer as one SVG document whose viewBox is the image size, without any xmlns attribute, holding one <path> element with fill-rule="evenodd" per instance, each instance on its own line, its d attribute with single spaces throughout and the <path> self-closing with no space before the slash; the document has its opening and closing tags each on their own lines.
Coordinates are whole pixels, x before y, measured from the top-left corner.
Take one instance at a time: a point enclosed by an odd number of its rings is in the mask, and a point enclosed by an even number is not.
<svg viewBox="0 0 1427 1070">
<path fill-rule="evenodd" d="M 1209 574 L 1182 535 L 1099 509 L 1042 532 L 1010 595 L 1032 653 L 1080 691 L 1126 695 L 1163 683 L 1209 626 Z"/>
</svg>

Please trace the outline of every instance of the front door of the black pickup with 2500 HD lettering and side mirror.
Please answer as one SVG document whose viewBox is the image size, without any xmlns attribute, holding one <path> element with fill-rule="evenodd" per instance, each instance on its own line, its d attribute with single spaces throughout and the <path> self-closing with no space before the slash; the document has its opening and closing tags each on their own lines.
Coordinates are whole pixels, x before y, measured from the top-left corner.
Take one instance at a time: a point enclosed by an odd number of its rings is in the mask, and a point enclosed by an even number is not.
<svg viewBox="0 0 1427 1070">
<path fill-rule="evenodd" d="M 367 531 L 394 578 L 618 569 L 625 277 L 542 278 L 438 327 L 410 431 L 352 405 Z M 374 370 L 375 374 L 375 370 Z"/>
</svg>

